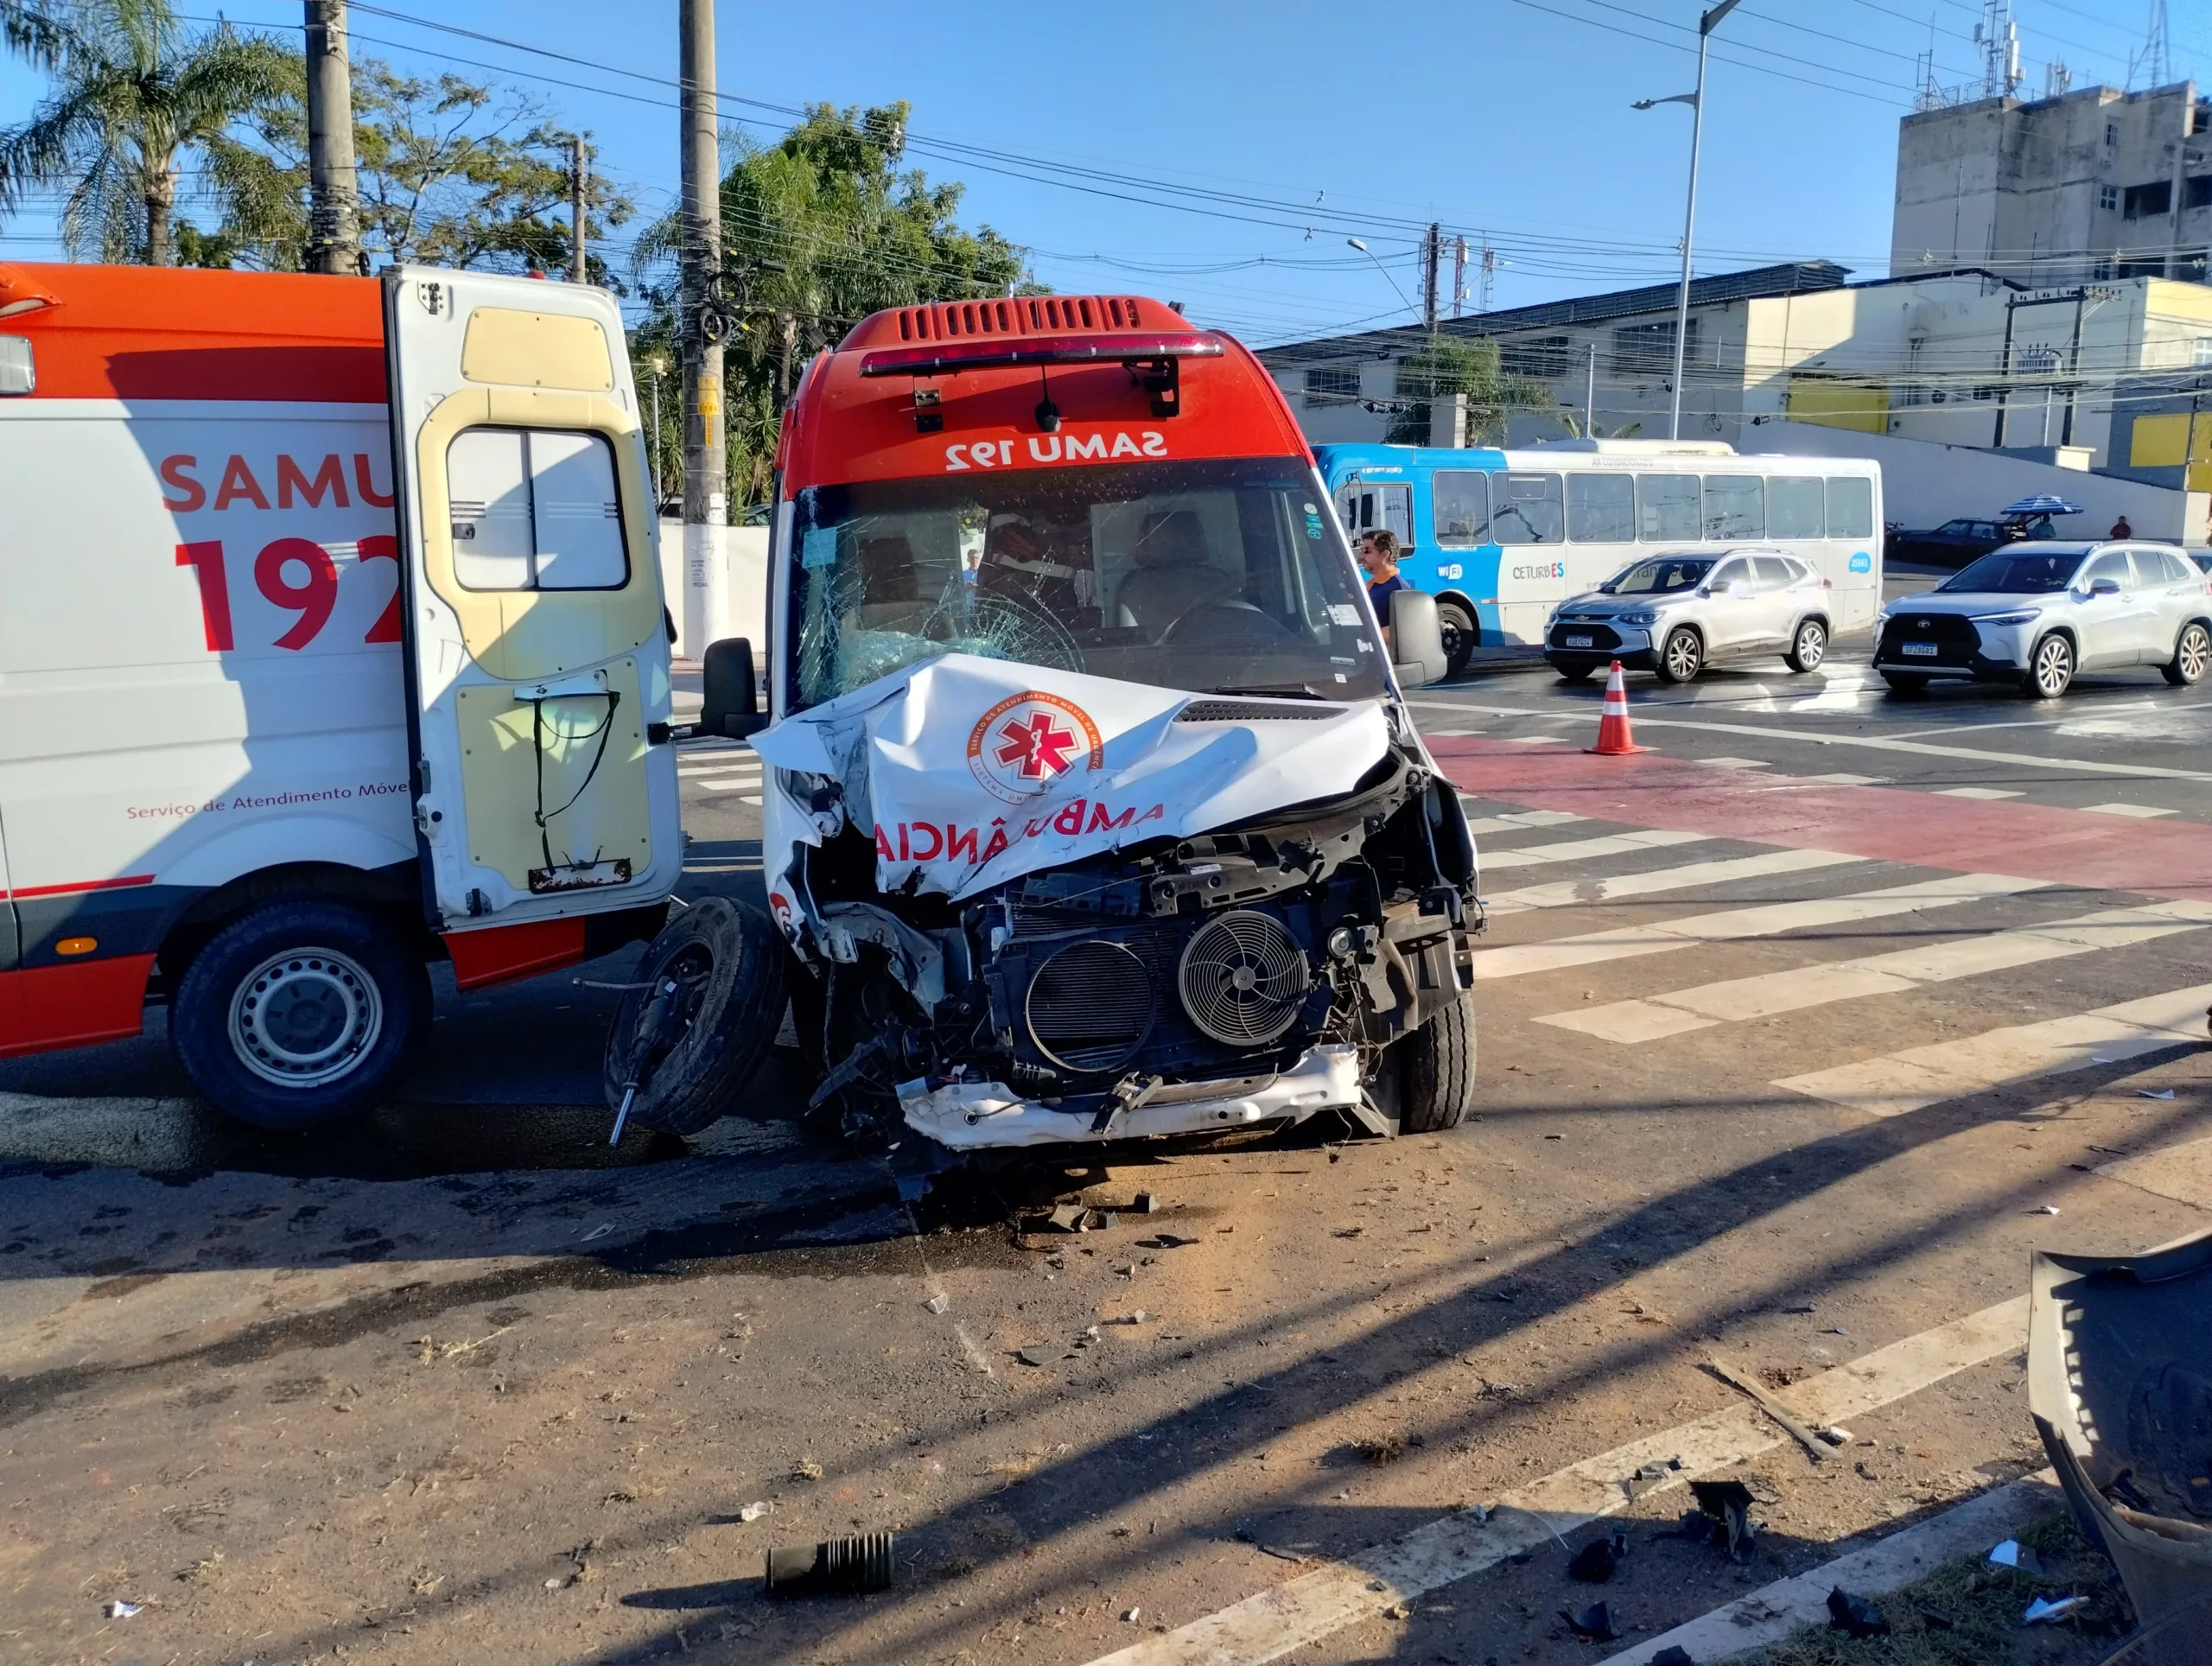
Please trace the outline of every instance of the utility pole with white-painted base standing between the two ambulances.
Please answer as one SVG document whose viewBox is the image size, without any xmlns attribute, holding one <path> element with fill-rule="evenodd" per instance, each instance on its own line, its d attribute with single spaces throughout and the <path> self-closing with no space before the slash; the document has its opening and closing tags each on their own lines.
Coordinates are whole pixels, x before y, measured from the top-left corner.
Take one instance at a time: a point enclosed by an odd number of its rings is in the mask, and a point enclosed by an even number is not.
<svg viewBox="0 0 2212 1666">
<path fill-rule="evenodd" d="M 684 210 L 677 265 L 684 323 L 684 646 L 701 659 L 728 617 L 721 529 L 730 522 L 730 454 L 721 414 L 721 153 L 714 122 L 714 0 L 681 0 Z M 712 341 L 708 341 L 712 336 Z"/>
</svg>

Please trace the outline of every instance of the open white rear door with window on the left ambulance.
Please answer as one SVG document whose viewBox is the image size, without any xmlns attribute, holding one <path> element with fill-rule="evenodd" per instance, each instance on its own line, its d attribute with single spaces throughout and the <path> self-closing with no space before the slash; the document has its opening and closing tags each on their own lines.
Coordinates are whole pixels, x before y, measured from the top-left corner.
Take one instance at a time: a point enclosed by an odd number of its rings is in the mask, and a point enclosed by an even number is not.
<svg viewBox="0 0 2212 1666">
<path fill-rule="evenodd" d="M 385 352 L 431 925 L 453 945 L 666 898 L 684 865 L 668 639 L 613 296 L 400 268 Z M 476 947 L 456 947 L 465 985 L 489 980 Z"/>
</svg>

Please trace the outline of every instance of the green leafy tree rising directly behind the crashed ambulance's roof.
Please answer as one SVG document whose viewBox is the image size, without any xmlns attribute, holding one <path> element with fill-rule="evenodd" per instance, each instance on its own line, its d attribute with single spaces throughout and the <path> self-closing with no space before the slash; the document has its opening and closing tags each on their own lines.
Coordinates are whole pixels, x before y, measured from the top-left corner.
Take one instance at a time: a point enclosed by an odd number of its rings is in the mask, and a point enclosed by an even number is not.
<svg viewBox="0 0 2212 1666">
<path fill-rule="evenodd" d="M 721 179 L 723 270 L 737 330 L 723 343 L 730 489 L 768 493 L 783 400 L 805 356 L 869 312 L 920 301 L 1035 294 L 1022 250 L 989 226 L 958 223 L 962 186 L 902 168 L 907 104 L 814 104 L 781 142 L 730 142 Z M 677 217 L 637 239 L 650 301 L 633 352 L 681 365 L 675 316 Z M 661 442 L 681 456 L 681 400 L 670 376 Z"/>
</svg>

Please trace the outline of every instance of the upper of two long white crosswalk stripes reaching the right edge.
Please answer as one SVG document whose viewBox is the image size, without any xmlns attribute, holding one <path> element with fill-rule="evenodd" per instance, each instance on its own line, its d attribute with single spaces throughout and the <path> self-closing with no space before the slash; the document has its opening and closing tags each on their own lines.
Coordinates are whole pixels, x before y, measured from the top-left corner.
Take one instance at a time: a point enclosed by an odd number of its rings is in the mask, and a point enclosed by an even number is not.
<svg viewBox="0 0 2212 1666">
<path fill-rule="evenodd" d="M 1670 989 L 1641 1000 L 1615 1000 L 1606 1007 L 1575 1007 L 1546 1013 L 1540 1024 L 1573 1029 L 1608 1042 L 1646 1042 L 1657 1035 L 1679 1035 L 1690 1029 L 1732 1024 L 1747 1018 L 1774 1018 L 1805 1007 L 1825 1007 L 1858 996 L 1898 996 L 1931 982 L 1975 978 L 1984 971 L 2011 971 L 2037 960 L 2062 960 L 2097 949 L 2126 949 L 2177 931 L 2201 931 L 2212 925 L 2212 903 L 2150 903 L 2146 907 L 2104 909 L 2073 920 L 2022 925 L 2011 931 L 1984 931 L 1955 943 L 1931 943 L 1889 954 L 1863 954 L 1849 960 L 1827 960 L 1790 971 L 1767 971 L 1756 978 L 1728 978 Z M 1688 1013 L 1657 1018 L 1655 1009 Z"/>
</svg>

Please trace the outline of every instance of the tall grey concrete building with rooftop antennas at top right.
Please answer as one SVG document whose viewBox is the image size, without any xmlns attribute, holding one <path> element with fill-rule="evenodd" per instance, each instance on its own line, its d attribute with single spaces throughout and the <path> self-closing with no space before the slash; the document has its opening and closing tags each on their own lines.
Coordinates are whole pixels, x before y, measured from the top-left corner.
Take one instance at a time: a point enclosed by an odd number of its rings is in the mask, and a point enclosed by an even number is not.
<svg viewBox="0 0 2212 1666">
<path fill-rule="evenodd" d="M 1933 104 L 1898 124 L 1889 274 L 2203 283 L 2212 102 L 2194 82 Z"/>
</svg>

